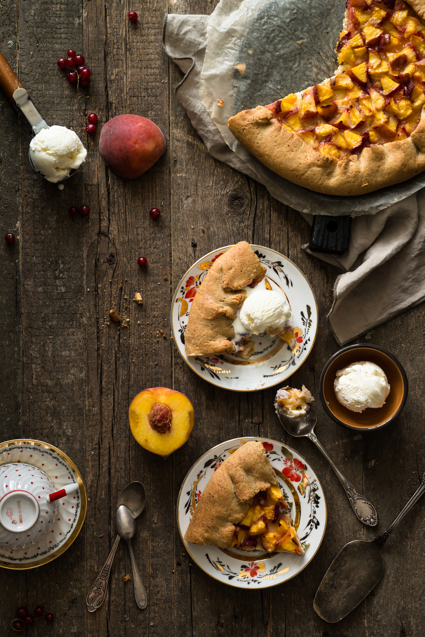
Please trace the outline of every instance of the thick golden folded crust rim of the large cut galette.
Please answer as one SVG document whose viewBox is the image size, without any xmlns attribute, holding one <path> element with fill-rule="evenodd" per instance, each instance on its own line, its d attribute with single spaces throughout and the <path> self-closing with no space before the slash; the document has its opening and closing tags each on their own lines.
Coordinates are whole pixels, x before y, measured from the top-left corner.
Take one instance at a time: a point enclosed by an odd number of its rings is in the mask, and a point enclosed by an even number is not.
<svg viewBox="0 0 425 637">
<path fill-rule="evenodd" d="M 363 148 L 359 155 L 326 157 L 288 131 L 264 106 L 241 111 L 229 129 L 264 166 L 315 192 L 359 195 L 404 182 L 425 169 L 425 110 L 407 140 Z M 378 169 L 377 169 L 378 168 Z"/>
</svg>

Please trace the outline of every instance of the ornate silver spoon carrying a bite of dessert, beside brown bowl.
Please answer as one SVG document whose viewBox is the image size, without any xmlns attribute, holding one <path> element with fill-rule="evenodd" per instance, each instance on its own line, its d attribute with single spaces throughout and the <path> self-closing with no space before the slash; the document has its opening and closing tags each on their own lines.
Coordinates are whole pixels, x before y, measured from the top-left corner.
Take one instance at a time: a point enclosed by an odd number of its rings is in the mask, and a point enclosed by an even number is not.
<svg viewBox="0 0 425 637">
<path fill-rule="evenodd" d="M 357 491 L 356 487 L 352 485 L 352 483 L 347 480 L 345 475 L 343 475 L 338 469 L 338 467 L 334 464 L 334 462 L 329 458 L 326 449 L 322 447 L 319 440 L 317 440 L 315 434 L 313 433 L 313 429 L 315 424 L 317 423 L 317 414 L 314 408 L 310 405 L 310 409 L 305 413 L 304 416 L 299 416 L 298 418 L 290 418 L 284 412 L 282 406 L 280 406 L 277 402 L 277 396 L 275 398 L 275 410 L 277 413 L 277 417 L 280 420 L 280 424 L 284 429 L 291 434 L 291 436 L 295 436 L 299 438 L 300 436 L 306 436 L 306 438 L 310 438 L 313 443 L 318 447 L 326 460 L 329 462 L 336 475 L 338 476 L 342 486 L 344 487 L 345 493 L 349 497 L 350 505 L 354 513 L 356 514 L 357 519 L 363 524 L 367 524 L 368 526 L 376 526 L 378 524 L 378 517 L 375 507 L 371 505 L 371 503 L 364 497 L 359 491 Z"/>
</svg>

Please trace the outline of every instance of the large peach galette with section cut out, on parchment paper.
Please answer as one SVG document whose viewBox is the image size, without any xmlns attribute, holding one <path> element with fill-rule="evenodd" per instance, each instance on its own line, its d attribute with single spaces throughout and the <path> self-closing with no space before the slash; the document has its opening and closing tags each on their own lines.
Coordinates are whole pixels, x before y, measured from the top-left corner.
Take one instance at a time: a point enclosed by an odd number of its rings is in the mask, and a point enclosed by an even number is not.
<svg viewBox="0 0 425 637">
<path fill-rule="evenodd" d="M 335 76 L 229 119 L 268 168 L 357 195 L 425 169 L 425 0 L 347 0 Z M 312 36 L 313 34 L 310 34 Z"/>
</svg>

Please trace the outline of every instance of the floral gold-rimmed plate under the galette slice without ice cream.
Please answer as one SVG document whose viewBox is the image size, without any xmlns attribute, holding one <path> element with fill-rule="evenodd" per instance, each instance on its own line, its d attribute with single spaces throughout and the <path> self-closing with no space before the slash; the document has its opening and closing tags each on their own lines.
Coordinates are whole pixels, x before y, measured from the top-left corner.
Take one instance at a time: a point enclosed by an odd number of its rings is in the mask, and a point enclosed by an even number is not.
<svg viewBox="0 0 425 637">
<path fill-rule="evenodd" d="M 220 464 L 250 440 L 263 443 L 275 469 L 278 484 L 289 504 L 294 527 L 304 555 L 272 553 L 264 550 L 218 548 L 184 542 L 199 568 L 215 580 L 238 588 L 261 589 L 275 586 L 298 575 L 312 561 L 326 529 L 326 499 L 321 482 L 310 464 L 291 447 L 268 438 L 235 438 L 202 455 L 184 479 L 177 502 L 178 530 L 182 541 L 202 492 Z"/>
</svg>

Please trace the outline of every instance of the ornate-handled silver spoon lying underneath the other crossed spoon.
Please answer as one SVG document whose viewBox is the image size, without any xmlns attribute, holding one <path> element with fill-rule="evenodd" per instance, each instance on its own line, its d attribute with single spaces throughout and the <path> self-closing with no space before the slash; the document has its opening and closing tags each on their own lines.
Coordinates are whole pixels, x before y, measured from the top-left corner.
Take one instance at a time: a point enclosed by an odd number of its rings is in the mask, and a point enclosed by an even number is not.
<svg viewBox="0 0 425 637">
<path fill-rule="evenodd" d="M 136 518 L 145 508 L 146 504 L 146 491 L 145 487 L 141 482 L 129 482 L 124 489 L 120 492 L 117 500 L 117 506 L 125 505 L 133 516 Z M 108 588 L 108 580 L 110 576 L 111 566 L 113 557 L 115 555 L 115 551 L 119 545 L 120 536 L 117 534 L 115 538 L 115 542 L 113 543 L 112 550 L 108 555 L 108 559 L 103 565 L 103 568 L 99 575 L 97 575 L 96 580 L 92 587 L 90 588 L 86 603 L 88 606 L 89 613 L 93 613 L 97 608 L 104 602 L 104 598 L 106 597 L 106 589 Z"/>
</svg>

